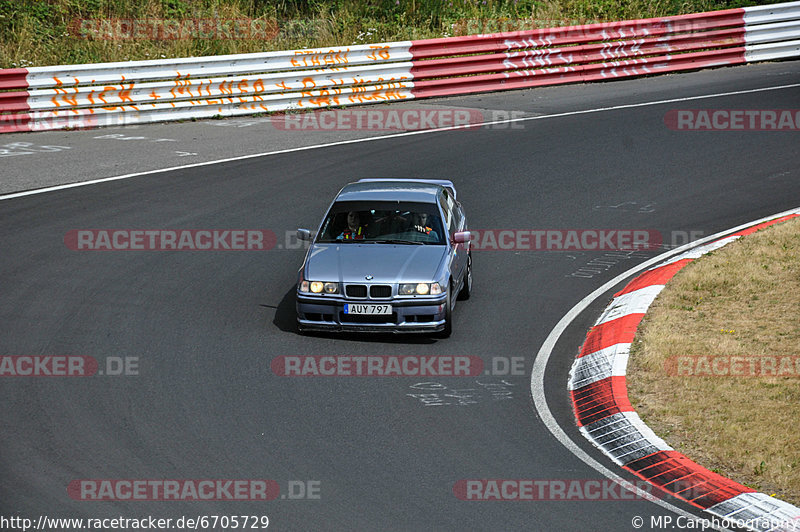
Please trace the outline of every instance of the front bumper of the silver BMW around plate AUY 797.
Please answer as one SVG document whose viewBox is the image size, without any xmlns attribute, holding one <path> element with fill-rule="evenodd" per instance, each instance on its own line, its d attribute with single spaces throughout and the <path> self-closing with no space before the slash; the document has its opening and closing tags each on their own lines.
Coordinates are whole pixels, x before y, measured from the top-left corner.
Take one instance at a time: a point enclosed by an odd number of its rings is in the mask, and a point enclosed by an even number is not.
<svg viewBox="0 0 800 532">
<path fill-rule="evenodd" d="M 425 333 L 441 331 L 447 295 L 414 300 L 321 299 L 297 295 L 297 325 L 303 331 Z M 344 314 L 346 303 L 390 304 L 391 315 Z"/>
</svg>

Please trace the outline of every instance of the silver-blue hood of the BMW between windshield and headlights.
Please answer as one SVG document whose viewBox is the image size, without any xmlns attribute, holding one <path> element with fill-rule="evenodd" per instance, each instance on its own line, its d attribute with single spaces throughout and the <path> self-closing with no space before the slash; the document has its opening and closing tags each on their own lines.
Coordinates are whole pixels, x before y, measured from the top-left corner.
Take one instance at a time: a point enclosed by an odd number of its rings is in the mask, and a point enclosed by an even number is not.
<svg viewBox="0 0 800 532">
<path fill-rule="evenodd" d="M 406 244 L 314 244 L 305 278 L 316 281 L 401 283 L 436 281 L 447 246 Z"/>
</svg>

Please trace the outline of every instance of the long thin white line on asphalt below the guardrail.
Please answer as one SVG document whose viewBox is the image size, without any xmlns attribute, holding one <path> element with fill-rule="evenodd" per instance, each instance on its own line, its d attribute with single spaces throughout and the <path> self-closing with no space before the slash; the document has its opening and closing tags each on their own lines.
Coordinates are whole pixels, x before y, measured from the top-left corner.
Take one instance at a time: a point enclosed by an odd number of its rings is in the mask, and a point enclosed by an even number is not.
<svg viewBox="0 0 800 532">
<path fill-rule="evenodd" d="M 583 110 L 580 110 L 580 111 L 566 111 L 566 112 L 563 112 L 563 113 L 554 113 L 554 114 L 550 114 L 550 115 L 537 115 L 537 116 L 527 116 L 527 117 L 522 117 L 522 118 L 509 118 L 509 119 L 505 119 L 505 120 L 494 120 L 494 121 L 491 121 L 491 122 L 481 122 L 481 123 L 461 125 L 461 126 L 448 126 L 448 127 L 440 127 L 440 128 L 435 128 L 435 129 L 423 129 L 423 130 L 419 130 L 419 131 L 406 131 L 406 132 L 403 132 L 403 133 L 393 133 L 393 134 L 390 134 L 390 135 L 381 135 L 381 136 L 377 136 L 377 137 L 367 137 L 367 138 L 362 138 L 362 139 L 340 140 L 340 141 L 336 141 L 336 142 L 327 142 L 325 144 L 314 144 L 314 145 L 311 145 L 311 146 L 300 146 L 300 147 L 297 147 L 297 148 L 287 148 L 285 150 L 276 150 L 276 151 L 264 152 L 264 153 L 253 153 L 253 154 L 250 154 L 250 155 L 240 155 L 238 157 L 228 157 L 227 159 L 217 159 L 217 160 L 214 160 L 214 161 L 205 161 L 205 162 L 201 162 L 201 163 L 185 164 L 185 165 L 181 165 L 181 166 L 171 166 L 169 168 L 159 168 L 159 169 L 156 169 L 156 170 L 146 170 L 144 172 L 135 172 L 135 173 L 131 173 L 131 174 L 124 174 L 124 175 L 113 176 L 113 177 L 102 177 L 102 178 L 99 178 L 99 179 L 92 179 L 90 181 L 81 181 L 79 183 L 68 183 L 68 184 L 65 184 L 65 185 L 55 185 L 55 186 L 52 186 L 52 187 L 37 188 L 37 189 L 34 189 L 34 190 L 26 190 L 26 191 L 23 191 L 23 192 L 14 192 L 14 193 L 11 193 L 11 194 L 1 195 L 0 196 L 0 200 L 20 198 L 20 197 L 23 197 L 23 196 L 32 196 L 34 194 L 44 194 L 45 192 L 54 192 L 56 190 L 64 190 L 64 189 L 68 189 L 68 188 L 84 187 L 84 186 L 88 186 L 88 185 L 96 185 L 98 183 L 107 183 L 109 181 L 117 181 L 117 180 L 120 180 L 120 179 L 128 179 L 128 178 L 131 178 L 131 177 L 138 177 L 138 176 L 144 176 L 144 175 L 150 175 L 150 174 L 158 174 L 158 173 L 161 173 L 161 172 L 171 172 L 171 171 L 174 171 L 174 170 L 183 170 L 183 169 L 186 169 L 186 168 L 197 168 L 197 167 L 200 167 L 200 166 L 210 166 L 212 164 L 222 164 L 222 163 L 228 163 L 228 162 L 232 162 L 232 161 L 243 161 L 245 159 L 253 159 L 253 158 L 256 158 L 256 157 L 267 157 L 267 156 L 270 156 L 270 155 L 280 155 L 280 154 L 283 154 L 283 153 L 293 153 L 293 152 L 300 152 L 300 151 L 306 151 L 306 150 L 314 150 L 314 149 L 317 149 L 317 148 L 330 148 L 330 147 L 333 147 L 333 146 L 343 146 L 343 145 L 346 145 L 346 144 L 357 144 L 357 143 L 360 143 L 360 142 L 372 142 L 372 141 L 376 141 L 376 140 L 392 139 L 392 138 L 398 138 L 398 137 L 408 137 L 408 136 L 412 136 L 412 135 L 423 135 L 423 134 L 427 134 L 427 133 L 439 133 L 439 132 L 442 132 L 442 131 L 455 131 L 455 130 L 458 130 L 458 129 L 478 128 L 478 127 L 483 127 L 483 126 L 491 126 L 491 125 L 494 125 L 494 124 L 509 124 L 509 123 L 514 123 L 514 122 L 527 122 L 527 121 L 531 121 L 531 120 L 543 120 L 545 118 L 562 118 L 562 117 L 565 117 L 565 116 L 574 116 L 574 115 L 589 114 L 589 113 L 601 113 L 601 112 L 605 112 L 605 111 L 617 111 L 619 109 L 632 109 L 632 108 L 635 108 L 635 107 L 648 107 L 648 106 L 652 106 L 652 105 L 663 105 L 663 104 L 667 104 L 667 103 L 687 102 L 687 101 L 691 101 L 691 100 L 703 100 L 703 99 L 707 99 L 707 98 L 720 98 L 720 97 L 724 97 L 724 96 L 735 96 L 735 95 L 738 95 L 738 94 L 751 94 L 751 93 L 754 93 L 754 92 L 764 92 L 764 91 L 791 89 L 791 88 L 795 88 L 795 87 L 800 87 L 800 83 L 794 83 L 794 84 L 791 84 L 791 85 L 779 85 L 779 86 L 776 86 L 776 87 L 762 87 L 762 88 L 758 88 L 758 89 L 747 89 L 747 90 L 741 90 L 741 91 L 720 92 L 720 93 L 716 93 L 716 94 L 703 94 L 703 95 L 699 95 L 699 96 L 687 96 L 685 98 L 672 98 L 672 99 L 669 99 L 669 100 L 656 100 L 656 101 L 652 101 L 652 102 L 641 102 L 641 103 L 631 103 L 631 104 L 625 104 L 625 105 L 614 105 L 614 106 L 611 106 L 611 107 L 598 107 L 598 108 L 595 108 L 595 109 L 583 109 Z"/>
</svg>

